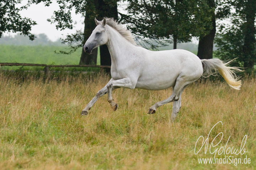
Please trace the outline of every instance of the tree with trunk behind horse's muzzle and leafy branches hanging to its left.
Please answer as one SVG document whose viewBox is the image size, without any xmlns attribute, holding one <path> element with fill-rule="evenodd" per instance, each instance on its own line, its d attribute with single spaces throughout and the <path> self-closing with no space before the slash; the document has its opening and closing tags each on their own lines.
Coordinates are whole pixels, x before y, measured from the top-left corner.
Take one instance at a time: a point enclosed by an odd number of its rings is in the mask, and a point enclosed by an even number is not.
<svg viewBox="0 0 256 170">
<path fill-rule="evenodd" d="M 32 3 L 40 3 L 48 0 L 33 0 Z M 69 54 L 84 46 L 86 40 L 91 35 L 92 30 L 95 28 L 94 17 L 96 14 L 95 0 L 57 0 L 60 9 L 54 11 L 53 16 L 48 19 L 49 22 L 56 24 L 56 29 L 64 30 L 66 28 L 73 29 L 75 24 L 71 18 L 71 10 L 74 9 L 75 13 L 81 13 L 84 19 L 84 30 L 77 30 L 75 34 L 69 34 L 62 41 L 67 43 L 71 48 L 70 51 L 60 51 L 60 53 Z M 79 64 L 96 64 L 97 62 L 97 49 L 92 51 L 92 54 L 87 54 L 83 49 Z"/>
</svg>

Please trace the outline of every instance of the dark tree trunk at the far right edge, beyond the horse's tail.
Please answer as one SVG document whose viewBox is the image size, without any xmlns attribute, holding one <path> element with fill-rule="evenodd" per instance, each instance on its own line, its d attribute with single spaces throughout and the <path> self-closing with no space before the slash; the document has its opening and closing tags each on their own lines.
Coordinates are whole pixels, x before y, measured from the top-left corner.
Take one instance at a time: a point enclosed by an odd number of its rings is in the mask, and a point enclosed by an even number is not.
<svg viewBox="0 0 256 170">
<path fill-rule="evenodd" d="M 244 27 L 244 45 L 242 47 L 242 52 L 244 56 L 244 68 L 251 71 L 254 68 L 256 62 L 256 29 L 255 29 L 255 11 L 256 2 L 255 0 L 248 0 L 245 7 L 246 22 Z"/>
</svg>

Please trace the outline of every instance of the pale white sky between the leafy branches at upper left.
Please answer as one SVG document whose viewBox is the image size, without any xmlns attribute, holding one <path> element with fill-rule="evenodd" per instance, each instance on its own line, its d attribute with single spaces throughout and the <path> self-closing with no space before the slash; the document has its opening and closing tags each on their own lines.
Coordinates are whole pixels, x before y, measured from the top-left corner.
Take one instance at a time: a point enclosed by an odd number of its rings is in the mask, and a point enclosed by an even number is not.
<svg viewBox="0 0 256 170">
<path fill-rule="evenodd" d="M 22 5 L 26 4 L 26 0 L 22 1 Z M 18 7 L 18 6 L 17 6 Z M 74 10 L 72 11 L 72 19 L 73 21 L 76 21 L 77 24 L 74 25 L 73 29 L 65 29 L 65 30 L 57 30 L 55 27 L 55 24 L 50 24 L 50 22 L 47 21 L 48 18 L 51 18 L 54 11 L 57 11 L 59 9 L 59 5 L 57 2 L 53 2 L 50 4 L 49 7 L 44 6 L 44 4 L 41 2 L 40 4 L 32 4 L 30 7 L 28 7 L 27 10 L 23 10 L 20 12 L 22 17 L 31 18 L 33 21 L 36 21 L 37 25 L 32 26 L 31 33 L 32 34 L 41 34 L 44 33 L 48 36 L 48 38 L 52 41 L 56 41 L 57 39 L 64 37 L 67 34 L 73 34 L 78 29 L 84 29 L 84 18 L 82 15 L 76 15 Z M 15 35 L 16 33 L 4 33 L 3 35 Z M 63 35 L 62 35 L 63 34 Z"/>
</svg>

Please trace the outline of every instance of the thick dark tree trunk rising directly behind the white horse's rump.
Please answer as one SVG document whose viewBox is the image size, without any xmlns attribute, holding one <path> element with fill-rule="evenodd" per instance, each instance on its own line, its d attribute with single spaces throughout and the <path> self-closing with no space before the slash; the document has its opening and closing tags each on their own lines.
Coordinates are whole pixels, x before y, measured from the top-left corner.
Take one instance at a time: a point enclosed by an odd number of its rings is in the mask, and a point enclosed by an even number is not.
<svg viewBox="0 0 256 170">
<path fill-rule="evenodd" d="M 214 0 L 208 0 L 208 5 L 210 7 L 215 8 Z M 202 59 L 210 59 L 213 58 L 213 40 L 216 33 L 216 22 L 215 22 L 215 13 L 212 13 L 212 30 L 210 33 L 205 36 L 199 37 L 199 44 L 198 44 L 198 52 L 197 56 Z"/>
</svg>

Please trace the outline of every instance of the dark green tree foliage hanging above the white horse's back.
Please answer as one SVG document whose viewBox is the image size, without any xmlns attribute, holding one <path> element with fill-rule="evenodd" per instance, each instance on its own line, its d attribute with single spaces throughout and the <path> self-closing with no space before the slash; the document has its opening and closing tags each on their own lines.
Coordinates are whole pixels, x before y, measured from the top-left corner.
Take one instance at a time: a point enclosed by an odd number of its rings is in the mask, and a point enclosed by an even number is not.
<svg viewBox="0 0 256 170">
<path fill-rule="evenodd" d="M 175 48 L 176 42 L 188 42 L 192 36 L 208 33 L 212 27 L 211 10 L 205 0 L 128 0 L 128 15 L 120 15 L 137 38 L 153 39 L 161 45 L 165 39 L 175 42 Z"/>
</svg>

